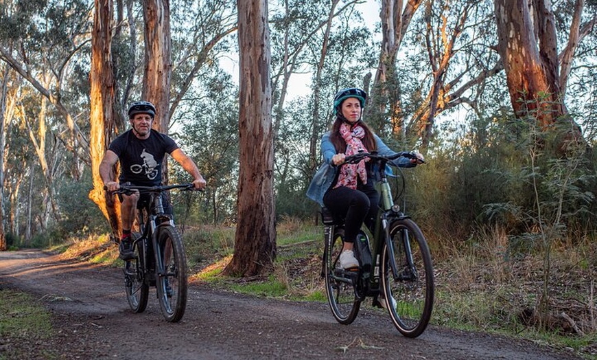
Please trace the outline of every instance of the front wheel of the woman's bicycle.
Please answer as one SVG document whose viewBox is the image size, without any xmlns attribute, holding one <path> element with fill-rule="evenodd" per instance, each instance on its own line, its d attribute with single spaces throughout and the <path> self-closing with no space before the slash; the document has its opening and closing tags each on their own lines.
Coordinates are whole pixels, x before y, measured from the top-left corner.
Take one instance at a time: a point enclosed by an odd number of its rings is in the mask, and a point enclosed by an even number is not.
<svg viewBox="0 0 597 360">
<path fill-rule="evenodd" d="M 382 253 L 382 291 L 386 304 L 389 303 L 388 312 L 402 335 L 418 337 L 429 324 L 433 309 L 435 286 L 431 253 L 423 232 L 409 218 L 390 224 L 390 240 L 393 254 L 387 244 Z M 389 256 L 395 258 L 397 277 L 393 275 Z M 391 304 L 391 299 L 395 304 Z"/>
</svg>

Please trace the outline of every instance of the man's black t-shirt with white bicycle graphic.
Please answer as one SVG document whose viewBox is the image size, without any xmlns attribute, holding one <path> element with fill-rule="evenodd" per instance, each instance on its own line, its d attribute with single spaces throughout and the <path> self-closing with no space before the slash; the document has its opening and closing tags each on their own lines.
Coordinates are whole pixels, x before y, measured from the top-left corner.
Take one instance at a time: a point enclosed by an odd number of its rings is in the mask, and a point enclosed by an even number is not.
<svg viewBox="0 0 597 360">
<path fill-rule="evenodd" d="M 108 146 L 120 160 L 119 181 L 142 186 L 161 183 L 164 157 L 177 148 L 171 137 L 153 129 L 147 139 L 139 139 L 132 130 L 126 131 Z"/>
</svg>

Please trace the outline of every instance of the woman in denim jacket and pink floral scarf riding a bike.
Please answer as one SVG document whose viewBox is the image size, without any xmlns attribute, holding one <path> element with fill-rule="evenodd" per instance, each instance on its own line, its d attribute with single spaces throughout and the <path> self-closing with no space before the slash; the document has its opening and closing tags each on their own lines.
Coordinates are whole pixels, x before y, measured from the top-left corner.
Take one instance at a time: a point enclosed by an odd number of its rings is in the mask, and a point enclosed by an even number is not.
<svg viewBox="0 0 597 360">
<path fill-rule="evenodd" d="M 336 120 L 331 131 L 321 138 L 324 163 L 313 177 L 307 196 L 327 207 L 334 217 L 344 218 L 344 245 L 340 266 L 351 269 L 359 266 L 353 252 L 353 243 L 363 223 L 371 229 L 377 215 L 379 193 L 373 185 L 373 171 L 368 159 L 358 164 L 344 164 L 344 158 L 359 151 L 393 155 L 382 139 L 362 120 L 367 94 L 362 89 L 342 89 L 333 98 Z M 397 159 L 396 166 L 412 167 L 423 162 L 417 159 Z"/>
</svg>

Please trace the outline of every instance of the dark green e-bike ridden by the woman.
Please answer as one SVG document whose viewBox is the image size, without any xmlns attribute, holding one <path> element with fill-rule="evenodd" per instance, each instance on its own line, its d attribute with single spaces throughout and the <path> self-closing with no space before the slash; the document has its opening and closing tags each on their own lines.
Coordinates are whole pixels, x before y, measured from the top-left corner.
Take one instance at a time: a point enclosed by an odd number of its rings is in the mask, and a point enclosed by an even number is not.
<svg viewBox="0 0 597 360">
<path fill-rule="evenodd" d="M 358 269 L 342 269 L 340 252 L 344 241 L 344 219 L 334 218 L 322 208 L 325 247 L 323 277 L 329 307 L 340 324 L 351 324 L 366 297 L 373 305 L 388 309 L 392 322 L 406 337 L 418 337 L 427 327 L 434 301 L 434 273 L 431 253 L 419 226 L 394 203 L 385 172 L 386 164 L 399 157 L 416 158 L 412 153 L 388 157 L 358 153 L 345 163 L 357 164 L 368 158 L 373 163 L 379 191 L 379 211 L 371 239 L 364 227 L 353 251 Z M 402 190 L 406 181 L 402 177 Z M 370 241 L 371 240 L 371 241 Z M 382 304 L 383 302 L 383 304 Z M 384 306 L 385 305 L 385 306 Z"/>
</svg>

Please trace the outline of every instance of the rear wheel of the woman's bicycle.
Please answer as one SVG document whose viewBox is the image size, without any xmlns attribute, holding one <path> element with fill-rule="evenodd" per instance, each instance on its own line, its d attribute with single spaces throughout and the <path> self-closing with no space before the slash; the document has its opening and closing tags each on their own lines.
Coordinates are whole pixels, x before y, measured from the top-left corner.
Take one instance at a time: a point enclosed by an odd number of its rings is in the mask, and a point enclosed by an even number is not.
<svg viewBox="0 0 597 360">
<path fill-rule="evenodd" d="M 342 251 L 343 229 L 333 234 L 331 244 L 325 244 L 325 289 L 327 302 L 333 317 L 340 324 L 351 324 L 359 313 L 361 301 L 355 295 L 351 276 L 356 274 L 344 271 L 340 267 L 340 252 Z"/>
</svg>

